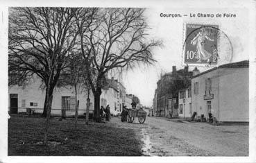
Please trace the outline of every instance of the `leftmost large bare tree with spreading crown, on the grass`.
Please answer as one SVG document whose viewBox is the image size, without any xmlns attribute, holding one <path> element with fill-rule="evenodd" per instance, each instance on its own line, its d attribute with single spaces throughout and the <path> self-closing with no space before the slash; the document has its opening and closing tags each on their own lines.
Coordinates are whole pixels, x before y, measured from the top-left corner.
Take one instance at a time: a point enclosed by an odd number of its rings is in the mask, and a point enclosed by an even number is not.
<svg viewBox="0 0 256 163">
<path fill-rule="evenodd" d="M 67 56 L 75 49 L 77 8 L 11 8 L 9 17 L 9 68 L 24 77 L 36 74 L 46 86 L 43 116 L 46 142 L 53 89 Z"/>
</svg>

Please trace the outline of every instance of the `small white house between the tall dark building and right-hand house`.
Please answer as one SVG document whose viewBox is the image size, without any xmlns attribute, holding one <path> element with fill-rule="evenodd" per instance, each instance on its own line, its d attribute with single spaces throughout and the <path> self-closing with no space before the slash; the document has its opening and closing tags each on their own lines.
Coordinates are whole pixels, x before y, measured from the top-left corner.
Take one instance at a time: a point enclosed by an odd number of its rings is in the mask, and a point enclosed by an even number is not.
<svg viewBox="0 0 256 163">
<path fill-rule="evenodd" d="M 179 117 L 188 118 L 192 116 L 191 87 L 179 91 Z"/>
</svg>

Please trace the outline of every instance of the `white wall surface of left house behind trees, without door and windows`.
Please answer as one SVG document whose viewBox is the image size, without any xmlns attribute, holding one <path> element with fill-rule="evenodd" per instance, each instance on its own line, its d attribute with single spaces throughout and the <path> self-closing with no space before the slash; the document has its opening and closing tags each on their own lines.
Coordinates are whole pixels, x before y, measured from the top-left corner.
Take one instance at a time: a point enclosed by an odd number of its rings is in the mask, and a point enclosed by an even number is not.
<svg viewBox="0 0 256 163">
<path fill-rule="evenodd" d="M 34 77 L 31 81 L 31 84 L 26 87 L 19 87 L 18 85 L 14 85 L 9 87 L 9 103 L 8 108 L 10 108 L 10 94 L 18 94 L 18 112 L 26 112 L 26 108 L 32 108 L 35 113 L 42 113 L 44 108 L 44 98 L 45 91 L 40 88 L 41 81 Z M 81 90 L 78 89 L 78 115 L 83 115 L 86 111 L 86 93 L 80 93 Z M 53 91 L 53 102 L 52 102 L 52 115 L 61 115 L 62 109 L 62 96 L 75 96 L 74 87 L 60 87 L 56 88 Z M 25 106 L 22 106 L 22 100 L 25 100 Z M 37 106 L 31 106 L 30 103 L 37 103 Z M 90 108 L 89 112 L 93 112 L 94 110 L 94 96 L 92 92 L 90 92 Z M 66 112 L 67 116 L 71 116 L 75 114 L 75 110 L 70 110 Z"/>
</svg>

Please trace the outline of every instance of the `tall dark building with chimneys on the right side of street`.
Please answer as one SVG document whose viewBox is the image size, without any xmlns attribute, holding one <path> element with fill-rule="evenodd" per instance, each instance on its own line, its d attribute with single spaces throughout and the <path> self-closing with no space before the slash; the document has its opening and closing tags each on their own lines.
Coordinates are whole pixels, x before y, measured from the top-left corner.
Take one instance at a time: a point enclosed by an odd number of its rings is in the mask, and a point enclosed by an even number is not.
<svg viewBox="0 0 256 163">
<path fill-rule="evenodd" d="M 189 87 L 189 78 L 192 75 L 193 72 L 189 71 L 189 67 L 177 71 L 176 66 L 173 66 L 171 73 L 164 74 L 157 81 L 155 90 L 157 116 L 178 117 L 178 92 Z"/>
</svg>

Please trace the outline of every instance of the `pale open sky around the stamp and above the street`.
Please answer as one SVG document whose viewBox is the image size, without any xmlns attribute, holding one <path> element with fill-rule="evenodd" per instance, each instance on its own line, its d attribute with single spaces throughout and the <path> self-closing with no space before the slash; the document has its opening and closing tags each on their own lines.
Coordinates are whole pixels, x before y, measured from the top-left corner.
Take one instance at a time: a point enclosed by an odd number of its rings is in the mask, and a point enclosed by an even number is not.
<svg viewBox="0 0 256 163">
<path fill-rule="evenodd" d="M 214 17 L 160 17 L 160 13 L 190 15 L 198 13 L 214 14 Z M 236 17 L 215 17 L 216 14 L 235 14 Z M 157 87 L 157 80 L 161 73 L 171 72 L 172 66 L 177 69 L 182 67 L 182 44 L 185 35 L 184 24 L 219 24 L 221 31 L 228 36 L 232 43 L 233 53 L 230 62 L 248 60 L 249 47 L 248 37 L 250 36 L 248 10 L 244 8 L 222 8 L 222 9 L 202 9 L 202 8 L 147 8 L 144 13 L 146 22 L 151 28 L 150 37 L 155 40 L 162 40 L 163 46 L 154 49 L 155 65 L 146 67 L 142 65 L 130 71 L 123 72 L 123 85 L 127 94 L 135 94 L 139 97 L 142 105 L 151 106 L 153 96 Z M 221 39 L 222 40 L 222 39 Z M 221 41 L 220 41 L 221 42 Z M 222 41 L 223 44 L 224 41 Z M 225 45 L 223 45 L 225 46 Z M 227 52 L 220 54 L 220 65 L 228 63 L 221 60 Z M 194 67 L 189 67 L 189 70 Z M 200 71 L 210 69 L 210 67 L 198 67 Z"/>
</svg>

